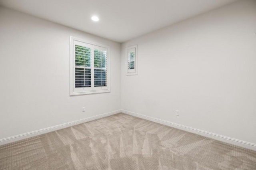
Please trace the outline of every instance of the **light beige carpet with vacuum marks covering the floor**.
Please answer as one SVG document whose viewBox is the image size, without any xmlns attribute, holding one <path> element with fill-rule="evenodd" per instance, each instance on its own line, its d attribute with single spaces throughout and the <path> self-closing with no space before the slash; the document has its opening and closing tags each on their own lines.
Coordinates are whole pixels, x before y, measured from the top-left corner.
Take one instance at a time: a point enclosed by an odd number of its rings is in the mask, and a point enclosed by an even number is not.
<svg viewBox="0 0 256 170">
<path fill-rule="evenodd" d="M 119 113 L 2 145 L 0 169 L 255 170 L 256 151 Z"/>
</svg>

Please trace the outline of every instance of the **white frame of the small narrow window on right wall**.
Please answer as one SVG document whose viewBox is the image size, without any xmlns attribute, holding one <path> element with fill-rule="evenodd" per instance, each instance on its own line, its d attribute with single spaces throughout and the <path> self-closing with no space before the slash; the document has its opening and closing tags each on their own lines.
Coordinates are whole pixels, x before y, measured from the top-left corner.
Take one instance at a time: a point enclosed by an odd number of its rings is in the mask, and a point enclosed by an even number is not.
<svg viewBox="0 0 256 170">
<path fill-rule="evenodd" d="M 134 69 L 128 69 L 128 53 L 134 51 L 135 59 L 134 59 Z M 138 45 L 132 45 L 130 47 L 125 48 L 126 55 L 126 75 L 138 75 Z"/>
</svg>

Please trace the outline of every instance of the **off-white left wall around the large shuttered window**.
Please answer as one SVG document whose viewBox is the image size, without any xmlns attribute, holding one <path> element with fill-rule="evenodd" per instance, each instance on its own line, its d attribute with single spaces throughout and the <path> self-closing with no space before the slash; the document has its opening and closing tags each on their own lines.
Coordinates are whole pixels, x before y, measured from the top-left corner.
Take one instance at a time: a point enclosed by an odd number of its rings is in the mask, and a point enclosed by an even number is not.
<svg viewBox="0 0 256 170">
<path fill-rule="evenodd" d="M 70 97 L 70 36 L 110 46 L 111 93 Z M 120 109 L 120 46 L 0 7 L 0 139 Z"/>
</svg>

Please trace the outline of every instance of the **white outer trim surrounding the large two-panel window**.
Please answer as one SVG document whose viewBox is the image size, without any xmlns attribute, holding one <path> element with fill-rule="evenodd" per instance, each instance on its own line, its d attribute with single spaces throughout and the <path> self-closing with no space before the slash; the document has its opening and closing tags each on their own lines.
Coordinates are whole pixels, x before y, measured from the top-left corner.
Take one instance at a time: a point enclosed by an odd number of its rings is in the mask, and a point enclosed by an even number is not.
<svg viewBox="0 0 256 170">
<path fill-rule="evenodd" d="M 90 90 L 88 90 L 88 87 L 79 87 L 83 88 L 81 91 L 75 91 L 75 50 L 74 50 L 74 41 L 81 42 L 81 43 L 86 43 L 88 45 L 92 46 L 98 46 L 102 48 L 106 48 L 107 51 L 107 74 L 106 74 L 106 81 L 107 81 L 107 86 L 102 86 L 102 87 L 90 87 Z M 94 56 L 92 55 L 93 59 L 91 58 L 92 61 L 94 61 Z M 94 63 L 92 62 L 91 64 L 91 73 L 94 72 L 94 69 L 97 69 L 97 67 L 94 67 Z M 91 74 L 91 77 L 94 77 L 94 75 Z M 94 79 L 94 78 L 93 78 Z M 92 80 L 93 80 L 92 79 Z M 86 89 L 87 88 L 87 89 Z M 102 45 L 99 43 L 95 42 L 88 42 L 86 40 L 82 40 L 80 38 L 75 38 L 73 36 L 70 36 L 70 96 L 72 95 L 86 95 L 86 94 L 94 94 L 94 93 L 107 93 L 110 92 L 110 47 L 108 45 Z"/>
</svg>

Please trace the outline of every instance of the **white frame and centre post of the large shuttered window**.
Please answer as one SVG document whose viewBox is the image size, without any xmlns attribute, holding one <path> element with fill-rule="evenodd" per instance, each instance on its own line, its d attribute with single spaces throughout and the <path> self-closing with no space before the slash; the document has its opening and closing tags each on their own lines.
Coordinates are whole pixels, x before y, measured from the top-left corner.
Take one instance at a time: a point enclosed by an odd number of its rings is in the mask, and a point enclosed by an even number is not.
<svg viewBox="0 0 256 170">
<path fill-rule="evenodd" d="M 85 45 L 86 44 L 86 45 Z M 107 62 L 106 62 L 106 86 L 94 87 L 94 50 L 91 52 L 91 87 L 75 87 L 75 45 L 82 45 L 90 47 L 91 49 L 107 49 Z M 106 93 L 110 92 L 110 47 L 99 43 L 87 42 L 79 38 L 70 36 L 70 96 L 72 95 L 86 95 L 93 93 Z"/>
</svg>

